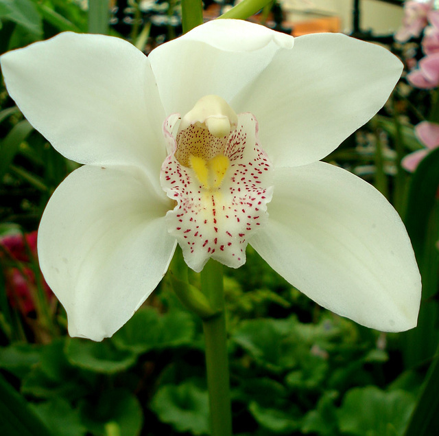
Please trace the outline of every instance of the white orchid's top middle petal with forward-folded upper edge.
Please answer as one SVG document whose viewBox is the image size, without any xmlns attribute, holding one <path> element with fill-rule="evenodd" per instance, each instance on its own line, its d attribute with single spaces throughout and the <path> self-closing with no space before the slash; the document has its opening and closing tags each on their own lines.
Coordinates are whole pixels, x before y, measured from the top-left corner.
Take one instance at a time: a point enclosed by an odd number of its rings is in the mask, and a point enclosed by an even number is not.
<svg viewBox="0 0 439 436">
<path fill-rule="evenodd" d="M 219 95 L 230 102 L 270 64 L 277 51 L 290 52 L 293 43 L 292 36 L 267 27 L 222 19 L 157 47 L 148 58 L 170 115 L 187 113 L 204 95 Z M 240 112 L 247 111 L 244 107 Z"/>
</svg>

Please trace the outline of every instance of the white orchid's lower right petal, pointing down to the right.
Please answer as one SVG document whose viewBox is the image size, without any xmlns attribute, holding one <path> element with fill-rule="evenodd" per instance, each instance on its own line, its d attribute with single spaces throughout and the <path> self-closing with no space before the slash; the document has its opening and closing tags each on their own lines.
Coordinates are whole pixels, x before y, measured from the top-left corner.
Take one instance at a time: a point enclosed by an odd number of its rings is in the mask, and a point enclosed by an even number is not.
<svg viewBox="0 0 439 436">
<path fill-rule="evenodd" d="M 420 275 L 403 223 L 375 188 L 327 163 L 277 168 L 250 244 L 321 306 L 378 330 L 416 325 Z"/>
</svg>

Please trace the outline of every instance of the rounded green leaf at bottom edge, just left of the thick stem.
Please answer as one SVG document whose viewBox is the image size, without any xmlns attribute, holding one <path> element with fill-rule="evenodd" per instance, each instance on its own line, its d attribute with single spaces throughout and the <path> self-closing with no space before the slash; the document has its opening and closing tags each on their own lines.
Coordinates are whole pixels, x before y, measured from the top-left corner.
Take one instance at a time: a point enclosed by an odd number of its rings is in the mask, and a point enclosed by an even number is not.
<svg viewBox="0 0 439 436">
<path fill-rule="evenodd" d="M 171 424 L 177 431 L 209 434 L 208 394 L 193 381 L 160 387 L 150 409 L 162 422 Z"/>
</svg>

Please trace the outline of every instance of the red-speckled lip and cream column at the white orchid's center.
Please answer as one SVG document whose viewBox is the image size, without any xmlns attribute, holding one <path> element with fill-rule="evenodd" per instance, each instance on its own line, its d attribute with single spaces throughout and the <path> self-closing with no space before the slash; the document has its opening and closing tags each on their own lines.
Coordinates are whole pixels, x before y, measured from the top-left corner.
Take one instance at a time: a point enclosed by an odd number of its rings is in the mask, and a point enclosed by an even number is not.
<svg viewBox="0 0 439 436">
<path fill-rule="evenodd" d="M 177 202 L 167 212 L 168 231 L 193 270 L 210 257 L 237 268 L 272 198 L 272 164 L 258 144 L 256 118 L 236 115 L 222 98 L 208 95 L 182 117 L 174 137 L 176 121 L 171 115 L 164 126 L 171 151 L 161 184 Z"/>
</svg>

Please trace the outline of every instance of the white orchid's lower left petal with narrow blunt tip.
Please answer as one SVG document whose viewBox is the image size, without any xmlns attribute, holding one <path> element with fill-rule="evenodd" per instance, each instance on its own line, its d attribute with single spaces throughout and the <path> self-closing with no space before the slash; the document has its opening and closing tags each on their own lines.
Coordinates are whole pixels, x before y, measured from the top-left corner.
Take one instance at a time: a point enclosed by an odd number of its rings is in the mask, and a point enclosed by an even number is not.
<svg viewBox="0 0 439 436">
<path fill-rule="evenodd" d="M 165 224 L 169 206 L 135 167 L 85 165 L 54 192 L 38 257 L 71 336 L 111 336 L 161 281 L 176 246 Z"/>
</svg>

